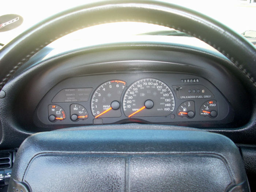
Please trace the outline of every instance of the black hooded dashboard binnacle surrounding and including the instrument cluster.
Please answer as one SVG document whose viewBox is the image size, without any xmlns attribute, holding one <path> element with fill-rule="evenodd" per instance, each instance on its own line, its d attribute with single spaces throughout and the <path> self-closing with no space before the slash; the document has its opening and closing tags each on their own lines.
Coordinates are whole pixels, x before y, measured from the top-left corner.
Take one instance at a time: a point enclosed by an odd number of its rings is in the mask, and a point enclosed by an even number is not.
<svg viewBox="0 0 256 192">
<path fill-rule="evenodd" d="M 3 131 L 20 132 L 22 140 L 24 133 L 90 125 L 165 124 L 211 131 L 248 122 L 248 92 L 218 53 L 122 46 L 95 46 L 49 59 L 48 49 L 42 50 L 12 80 L 8 95 L 17 97 L 2 100 L 11 118 Z"/>
</svg>

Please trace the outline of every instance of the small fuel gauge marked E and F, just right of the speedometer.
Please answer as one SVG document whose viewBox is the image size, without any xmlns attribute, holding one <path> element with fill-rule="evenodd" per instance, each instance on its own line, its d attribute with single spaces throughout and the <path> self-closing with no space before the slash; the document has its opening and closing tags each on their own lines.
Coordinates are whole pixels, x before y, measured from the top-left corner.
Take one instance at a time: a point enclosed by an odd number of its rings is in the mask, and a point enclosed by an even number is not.
<svg viewBox="0 0 256 192">
<path fill-rule="evenodd" d="M 177 116 L 193 118 L 195 116 L 195 102 L 185 101 L 177 109 Z"/>
</svg>

